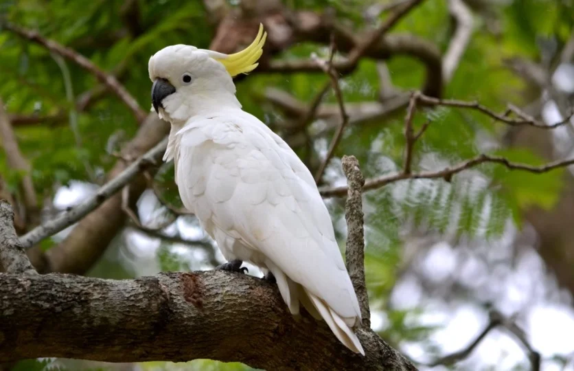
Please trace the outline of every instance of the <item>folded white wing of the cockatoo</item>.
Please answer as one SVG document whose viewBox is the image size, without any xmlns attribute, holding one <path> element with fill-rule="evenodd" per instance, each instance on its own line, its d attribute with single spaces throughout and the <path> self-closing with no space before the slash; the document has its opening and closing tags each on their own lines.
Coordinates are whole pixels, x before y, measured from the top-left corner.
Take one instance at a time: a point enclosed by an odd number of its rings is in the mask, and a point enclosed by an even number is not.
<svg viewBox="0 0 574 371">
<path fill-rule="evenodd" d="M 243 112 L 194 119 L 177 135 L 183 202 L 193 202 L 200 219 L 262 252 L 338 315 L 360 318 L 328 210 L 310 172 L 283 140 Z"/>
</svg>

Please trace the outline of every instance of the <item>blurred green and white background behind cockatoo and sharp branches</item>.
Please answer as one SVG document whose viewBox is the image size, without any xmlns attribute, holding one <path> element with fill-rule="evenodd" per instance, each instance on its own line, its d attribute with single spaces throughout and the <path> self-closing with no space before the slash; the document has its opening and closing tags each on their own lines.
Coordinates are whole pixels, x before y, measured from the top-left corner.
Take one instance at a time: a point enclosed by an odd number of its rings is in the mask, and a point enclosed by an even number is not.
<svg viewBox="0 0 574 371">
<path fill-rule="evenodd" d="M 233 52 L 253 40 L 260 22 L 268 31 L 264 56 L 253 73 L 236 79 L 238 98 L 316 173 L 341 119 L 332 89 L 325 89 L 329 78 L 312 58 L 328 57 L 333 34 L 336 64 L 407 2 L 0 0 L 0 19 L 89 58 L 137 101 L 129 107 L 73 58 L 0 24 L 0 98 L 8 117 L 1 192 L 16 205 L 19 233 L 80 203 L 167 133 L 167 124 L 149 113 L 154 52 L 177 43 Z M 409 91 L 477 100 L 501 113 L 512 104 L 546 124 L 567 120 L 573 25 L 572 0 L 420 1 L 356 65 L 339 71 L 349 124 L 319 183 L 345 184 L 342 155 L 358 157 L 367 178 L 400 170 Z M 574 120 L 544 130 L 435 106 L 420 109 L 414 125 L 426 121 L 416 171 L 479 153 L 527 164 L 574 156 Z M 574 370 L 572 170 L 531 174 L 483 165 L 448 181 L 398 181 L 365 192 L 372 327 L 421 370 Z M 325 203 L 344 251 L 344 198 Z M 102 278 L 223 262 L 182 210 L 172 164 L 140 177 L 30 255 L 44 272 Z M 249 273 L 261 276 L 254 267 Z M 3 367 L 251 370 L 210 360 L 41 359 Z"/>
</svg>

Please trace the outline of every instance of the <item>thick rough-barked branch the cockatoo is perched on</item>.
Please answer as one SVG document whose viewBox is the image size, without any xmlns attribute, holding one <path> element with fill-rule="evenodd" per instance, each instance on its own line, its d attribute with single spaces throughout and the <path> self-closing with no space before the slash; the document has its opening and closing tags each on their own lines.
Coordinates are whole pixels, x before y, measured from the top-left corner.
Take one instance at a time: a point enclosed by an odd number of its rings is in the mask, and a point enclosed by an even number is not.
<svg viewBox="0 0 574 371">
<path fill-rule="evenodd" d="M 267 370 L 416 370 L 370 329 L 347 350 L 324 322 L 293 317 L 277 286 L 223 271 L 102 280 L 0 273 L 0 361 L 240 361 Z"/>
</svg>

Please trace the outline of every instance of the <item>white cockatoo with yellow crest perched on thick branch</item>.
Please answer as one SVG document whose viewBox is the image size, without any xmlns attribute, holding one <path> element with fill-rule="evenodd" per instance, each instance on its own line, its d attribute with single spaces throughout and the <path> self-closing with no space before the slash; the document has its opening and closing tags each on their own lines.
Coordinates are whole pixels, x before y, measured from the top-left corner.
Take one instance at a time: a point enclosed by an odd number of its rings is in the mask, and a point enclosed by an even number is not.
<svg viewBox="0 0 574 371">
<path fill-rule="evenodd" d="M 356 293 L 310 171 L 236 98 L 232 77 L 257 67 L 265 39 L 260 25 L 236 54 L 171 45 L 150 58 L 153 109 L 171 124 L 163 160 L 174 159 L 183 205 L 228 260 L 220 269 L 257 265 L 275 277 L 292 314 L 303 304 L 365 355 L 354 333 Z"/>
</svg>

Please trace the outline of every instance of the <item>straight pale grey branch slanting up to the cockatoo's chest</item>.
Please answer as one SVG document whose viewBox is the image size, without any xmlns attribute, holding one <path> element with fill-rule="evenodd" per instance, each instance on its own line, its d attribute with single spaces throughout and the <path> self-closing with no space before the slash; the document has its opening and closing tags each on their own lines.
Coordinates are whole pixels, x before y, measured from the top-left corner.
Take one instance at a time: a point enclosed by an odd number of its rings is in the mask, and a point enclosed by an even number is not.
<svg viewBox="0 0 574 371">
<path fill-rule="evenodd" d="M 146 168 L 149 168 L 153 164 L 157 164 L 157 161 L 161 159 L 161 155 L 165 152 L 167 145 L 168 138 L 165 138 L 152 149 L 148 150 L 146 154 L 130 164 L 121 174 L 97 190 L 93 196 L 90 196 L 87 200 L 80 203 L 80 205 L 32 229 L 32 231 L 20 238 L 22 245 L 26 249 L 30 248 L 44 238 L 56 234 L 62 229 L 69 227 L 69 225 L 76 223 L 89 214 L 89 212 L 95 210 L 96 207 L 104 203 L 104 201 L 113 196 L 113 194 L 124 188 L 139 172 L 146 170 Z"/>
</svg>

